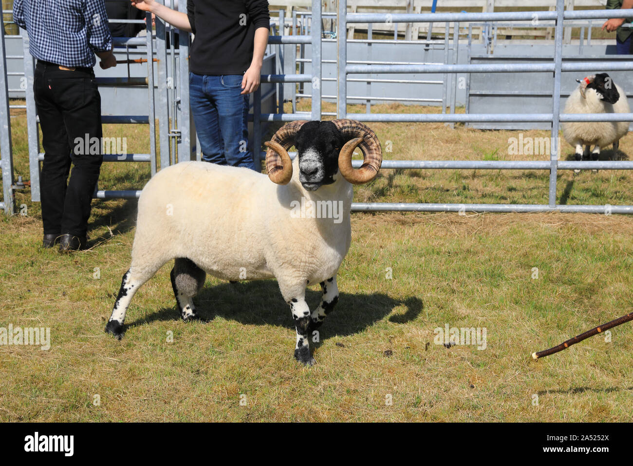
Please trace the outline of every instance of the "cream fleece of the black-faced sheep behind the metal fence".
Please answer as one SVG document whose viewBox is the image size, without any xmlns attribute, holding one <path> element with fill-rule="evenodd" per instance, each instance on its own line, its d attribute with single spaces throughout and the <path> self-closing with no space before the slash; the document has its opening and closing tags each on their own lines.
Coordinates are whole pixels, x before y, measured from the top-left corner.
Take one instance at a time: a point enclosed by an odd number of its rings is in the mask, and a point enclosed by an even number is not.
<svg viewBox="0 0 633 466">
<path fill-rule="evenodd" d="M 578 86 L 567 98 L 563 113 L 629 113 L 627 94 L 615 84 L 620 94 L 618 101 L 611 105 L 598 97 L 595 89 L 585 89 L 585 98 Z M 561 123 L 563 137 L 572 146 L 606 147 L 620 140 L 629 131 L 629 122 L 564 122 Z"/>
</svg>

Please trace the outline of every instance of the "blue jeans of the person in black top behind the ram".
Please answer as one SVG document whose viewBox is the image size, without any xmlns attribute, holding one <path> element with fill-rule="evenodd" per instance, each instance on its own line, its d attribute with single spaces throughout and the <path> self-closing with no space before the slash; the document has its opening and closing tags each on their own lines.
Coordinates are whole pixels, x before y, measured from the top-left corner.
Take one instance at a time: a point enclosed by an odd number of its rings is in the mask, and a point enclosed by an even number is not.
<svg viewBox="0 0 633 466">
<path fill-rule="evenodd" d="M 203 160 L 256 170 L 248 148 L 249 99 L 240 94 L 242 77 L 189 73 L 189 103 Z"/>
</svg>

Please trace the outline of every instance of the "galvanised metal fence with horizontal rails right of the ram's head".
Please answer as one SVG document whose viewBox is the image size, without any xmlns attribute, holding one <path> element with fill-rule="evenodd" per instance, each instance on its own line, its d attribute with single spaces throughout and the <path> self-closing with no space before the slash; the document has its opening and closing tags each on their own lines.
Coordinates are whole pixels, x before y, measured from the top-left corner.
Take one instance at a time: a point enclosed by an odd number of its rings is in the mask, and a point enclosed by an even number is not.
<svg viewBox="0 0 633 466">
<path fill-rule="evenodd" d="M 630 161 L 563 161 L 559 160 L 558 133 L 560 122 L 633 121 L 633 113 L 560 114 L 561 72 L 601 72 L 633 70 L 633 62 L 574 62 L 563 63 L 564 20 L 599 18 L 632 18 L 633 10 L 580 10 L 565 11 L 564 0 L 556 1 L 555 11 L 516 11 L 501 13 L 348 13 L 347 0 L 339 0 L 337 15 L 337 118 L 353 118 L 363 122 L 551 122 L 551 148 L 549 161 L 484 161 L 484 160 L 384 160 L 384 169 L 495 169 L 495 170 L 549 170 L 549 202 L 540 204 L 420 204 L 420 203 L 354 203 L 353 210 L 401 210 L 434 212 L 596 212 L 633 213 L 633 205 L 558 205 L 556 204 L 556 178 L 558 170 L 573 169 L 633 169 Z M 442 65 L 360 65 L 348 63 L 346 30 L 348 23 L 384 22 L 508 22 L 553 20 L 555 22 L 555 53 L 552 63 L 486 63 Z M 503 73 L 552 72 L 553 106 L 551 113 L 470 113 L 470 114 L 392 114 L 348 113 L 347 77 L 349 74 L 370 73 Z M 359 165 L 361 162 L 356 162 Z"/>
</svg>

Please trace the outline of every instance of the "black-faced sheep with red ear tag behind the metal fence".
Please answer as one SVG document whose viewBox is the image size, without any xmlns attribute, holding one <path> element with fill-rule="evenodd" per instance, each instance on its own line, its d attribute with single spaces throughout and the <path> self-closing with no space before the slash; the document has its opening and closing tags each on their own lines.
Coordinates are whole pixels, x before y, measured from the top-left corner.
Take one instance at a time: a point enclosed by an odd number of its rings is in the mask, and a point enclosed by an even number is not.
<svg viewBox="0 0 633 466">
<path fill-rule="evenodd" d="M 570 94 L 563 113 L 630 113 L 627 94 L 606 73 L 588 76 Z M 563 122 L 563 137 L 575 147 L 576 160 L 589 157 L 598 160 L 600 149 L 619 141 L 629 131 L 629 122 Z M 584 146 L 584 151 L 583 151 Z"/>
</svg>

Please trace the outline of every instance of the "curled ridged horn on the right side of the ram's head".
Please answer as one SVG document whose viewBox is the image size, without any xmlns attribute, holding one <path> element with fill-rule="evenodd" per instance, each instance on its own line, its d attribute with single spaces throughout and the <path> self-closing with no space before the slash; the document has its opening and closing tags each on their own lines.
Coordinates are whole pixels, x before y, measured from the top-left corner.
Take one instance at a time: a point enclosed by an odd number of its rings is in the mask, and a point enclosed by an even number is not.
<svg viewBox="0 0 633 466">
<path fill-rule="evenodd" d="M 363 184 L 372 181 L 380 170 L 382 148 L 376 134 L 356 120 L 338 119 L 334 124 L 348 142 L 339 153 L 339 171 L 349 183 Z M 352 167 L 352 153 L 358 147 L 363 152 L 363 165 Z"/>
</svg>

